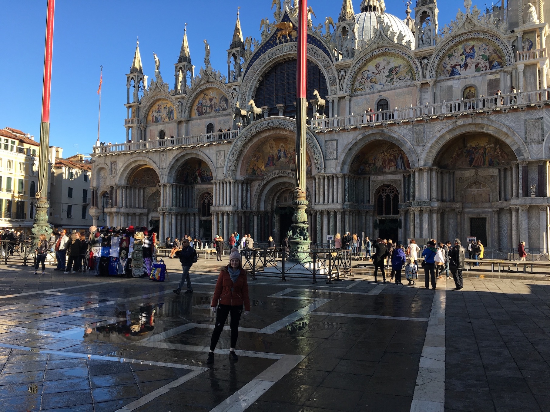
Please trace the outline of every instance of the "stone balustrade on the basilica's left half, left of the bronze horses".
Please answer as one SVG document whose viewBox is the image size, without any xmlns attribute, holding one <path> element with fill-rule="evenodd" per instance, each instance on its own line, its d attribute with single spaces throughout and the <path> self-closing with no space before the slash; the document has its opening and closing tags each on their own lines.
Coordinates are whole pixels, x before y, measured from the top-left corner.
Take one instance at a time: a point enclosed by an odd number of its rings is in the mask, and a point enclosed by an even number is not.
<svg viewBox="0 0 550 412">
<path fill-rule="evenodd" d="M 208 133 L 199 136 L 167 137 L 158 140 L 148 140 L 143 142 L 115 143 L 105 144 L 104 146 L 94 146 L 92 154 L 106 154 L 117 152 L 140 152 L 144 150 L 165 149 L 177 146 L 207 146 L 217 142 L 232 140 L 239 135 L 239 130 L 227 132 Z"/>
</svg>

